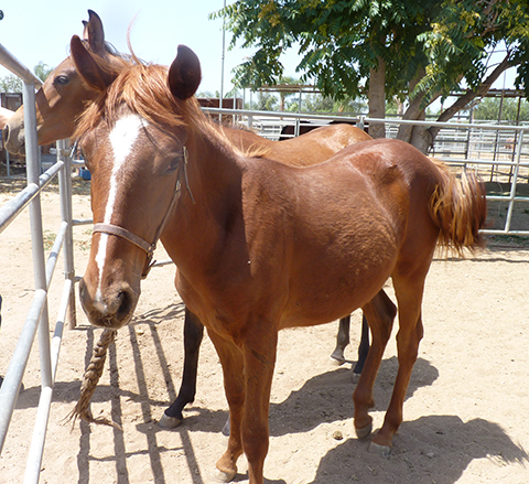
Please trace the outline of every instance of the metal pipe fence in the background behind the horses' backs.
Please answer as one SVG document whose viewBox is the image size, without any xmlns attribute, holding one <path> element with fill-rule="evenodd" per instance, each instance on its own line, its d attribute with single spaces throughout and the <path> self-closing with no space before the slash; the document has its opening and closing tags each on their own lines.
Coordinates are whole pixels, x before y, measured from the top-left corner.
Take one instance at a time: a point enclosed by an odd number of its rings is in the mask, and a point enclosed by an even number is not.
<svg viewBox="0 0 529 484">
<path fill-rule="evenodd" d="M 259 135 L 270 139 L 279 139 L 281 127 L 294 126 L 294 135 L 300 135 L 303 123 L 309 126 L 324 126 L 330 121 L 354 123 L 364 129 L 367 123 L 385 123 L 386 137 L 396 138 L 401 125 L 424 126 L 441 128 L 431 154 L 452 166 L 462 166 L 464 170 L 475 170 L 482 173 L 501 173 L 510 184 L 507 195 L 487 195 L 487 201 L 498 201 L 507 204 L 507 216 L 504 228 L 484 229 L 490 235 L 520 235 L 529 236 L 529 227 L 522 230 L 511 228 L 515 204 L 528 204 L 529 196 L 517 194 L 517 187 L 529 182 L 529 126 L 505 126 L 479 122 L 434 122 L 409 121 L 403 119 L 376 119 L 366 116 L 346 117 L 311 115 L 298 112 L 252 111 L 245 109 L 203 108 L 209 115 L 231 115 L 234 125 L 253 129 Z M 300 118 L 302 121 L 300 122 Z M 505 146 L 509 146 L 505 148 Z M 500 154 L 501 157 L 499 157 Z M 523 171 L 523 173 L 521 173 Z M 529 207 L 529 205 L 528 205 Z"/>
</svg>

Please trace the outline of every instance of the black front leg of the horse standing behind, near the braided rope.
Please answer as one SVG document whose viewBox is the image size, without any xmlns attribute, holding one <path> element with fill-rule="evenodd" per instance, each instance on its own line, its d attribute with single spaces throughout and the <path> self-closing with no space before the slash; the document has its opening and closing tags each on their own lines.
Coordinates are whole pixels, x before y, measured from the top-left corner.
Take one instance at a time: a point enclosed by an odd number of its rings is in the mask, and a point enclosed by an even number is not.
<svg viewBox="0 0 529 484">
<path fill-rule="evenodd" d="M 184 374 L 176 400 L 164 411 L 160 419 L 159 426 L 163 429 L 174 429 L 177 427 L 184 419 L 182 415 L 183 408 L 195 399 L 198 353 L 203 337 L 203 324 L 198 318 L 186 308 L 184 315 Z"/>
</svg>

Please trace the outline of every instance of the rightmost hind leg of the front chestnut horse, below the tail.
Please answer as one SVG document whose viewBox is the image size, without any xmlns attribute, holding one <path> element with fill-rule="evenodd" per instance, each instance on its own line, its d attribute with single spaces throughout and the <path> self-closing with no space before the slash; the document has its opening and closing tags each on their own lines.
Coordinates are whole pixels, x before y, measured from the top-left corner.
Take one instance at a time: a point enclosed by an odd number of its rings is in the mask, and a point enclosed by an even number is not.
<svg viewBox="0 0 529 484">
<path fill-rule="evenodd" d="M 419 275 L 413 280 L 410 277 L 402 279 L 393 275 L 392 279 L 399 304 L 399 332 L 397 333 L 399 369 L 384 424 L 371 442 L 371 450 L 380 450 L 382 454 L 389 453 L 392 445 L 391 439 L 402 423 L 406 391 L 423 335 L 421 304 L 424 277 L 421 278 Z"/>
</svg>

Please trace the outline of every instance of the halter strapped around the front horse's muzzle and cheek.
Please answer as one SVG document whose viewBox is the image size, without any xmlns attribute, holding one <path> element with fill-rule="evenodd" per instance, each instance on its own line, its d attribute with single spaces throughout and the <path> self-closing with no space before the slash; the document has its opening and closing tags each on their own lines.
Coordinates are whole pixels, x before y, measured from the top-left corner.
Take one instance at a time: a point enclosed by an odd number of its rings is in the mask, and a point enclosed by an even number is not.
<svg viewBox="0 0 529 484">
<path fill-rule="evenodd" d="M 98 233 L 101 233 L 101 234 L 109 234 L 109 235 L 114 235 L 116 237 L 121 237 L 121 238 L 128 240 L 129 243 L 133 244 L 134 246 L 139 247 L 140 249 L 142 249 L 147 254 L 147 260 L 145 260 L 145 265 L 143 266 L 143 270 L 141 272 L 141 279 L 145 279 L 147 276 L 149 276 L 151 267 L 155 262 L 155 260 L 154 261 L 152 260 L 153 255 L 154 255 L 154 249 L 156 248 L 156 243 L 160 238 L 160 235 L 162 234 L 162 230 L 163 230 L 163 227 L 165 226 L 165 223 L 168 222 L 169 215 L 171 214 L 172 209 L 174 208 L 174 205 L 176 204 L 176 201 L 179 200 L 180 189 L 181 189 L 180 178 L 182 176 L 182 172 L 183 172 L 183 176 L 184 176 L 185 186 L 187 187 L 187 191 L 190 192 L 190 195 L 191 195 L 191 200 L 193 201 L 193 203 L 195 203 L 195 200 L 193 198 L 193 194 L 191 193 L 190 183 L 188 183 L 188 180 L 187 180 L 187 159 L 188 159 L 188 155 L 187 155 L 187 148 L 185 148 L 185 147 L 182 147 L 182 158 L 184 159 L 183 171 L 180 170 L 180 166 L 179 166 L 179 174 L 176 176 L 176 185 L 175 185 L 175 189 L 174 189 L 173 196 L 171 198 L 171 203 L 169 204 L 169 208 L 165 212 L 165 215 L 163 216 L 163 219 L 162 219 L 160 226 L 158 227 L 158 229 L 154 234 L 154 240 L 152 241 L 152 244 L 149 244 L 147 240 L 142 239 L 141 237 L 138 237 L 136 234 L 132 234 L 131 232 L 127 230 L 127 228 L 120 227 L 118 225 L 94 224 L 93 234 L 98 232 Z"/>
</svg>

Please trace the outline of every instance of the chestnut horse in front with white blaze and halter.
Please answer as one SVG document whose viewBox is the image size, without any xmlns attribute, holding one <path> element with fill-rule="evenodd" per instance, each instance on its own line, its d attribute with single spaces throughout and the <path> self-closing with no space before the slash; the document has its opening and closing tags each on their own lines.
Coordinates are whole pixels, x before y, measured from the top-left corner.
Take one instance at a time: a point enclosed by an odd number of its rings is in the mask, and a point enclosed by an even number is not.
<svg viewBox="0 0 529 484">
<path fill-rule="evenodd" d="M 247 158 L 203 115 L 196 55 L 179 46 L 169 69 L 131 65 L 111 84 L 78 37 L 72 54 L 101 90 L 76 137 L 93 174 L 95 232 L 82 304 L 93 324 L 131 321 L 149 247 L 160 237 L 175 286 L 219 356 L 231 432 L 216 467 L 230 480 L 246 454 L 263 482 L 278 331 L 323 324 L 361 308 L 373 335 L 354 392 L 354 426 L 368 410 L 398 302 L 399 368 L 371 445 L 389 451 L 423 335 L 424 279 L 438 240 L 461 252 L 483 245 L 485 191 L 457 180 L 408 143 L 350 146 L 306 168 Z M 142 248 L 147 247 L 147 248 Z"/>
</svg>

